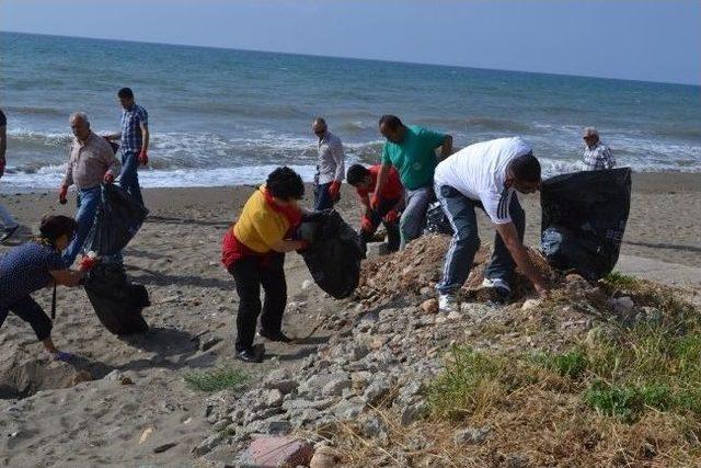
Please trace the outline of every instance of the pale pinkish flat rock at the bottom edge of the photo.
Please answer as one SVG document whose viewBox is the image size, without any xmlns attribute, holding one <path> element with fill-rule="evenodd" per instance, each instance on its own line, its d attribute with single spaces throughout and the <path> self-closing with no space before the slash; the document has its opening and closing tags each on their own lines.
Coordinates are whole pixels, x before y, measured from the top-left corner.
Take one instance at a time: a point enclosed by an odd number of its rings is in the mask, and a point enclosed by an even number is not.
<svg viewBox="0 0 701 468">
<path fill-rule="evenodd" d="M 290 437 L 261 437 L 251 442 L 246 461 L 256 467 L 295 468 L 299 465 L 308 466 L 313 452 L 314 447 L 308 441 Z"/>
</svg>

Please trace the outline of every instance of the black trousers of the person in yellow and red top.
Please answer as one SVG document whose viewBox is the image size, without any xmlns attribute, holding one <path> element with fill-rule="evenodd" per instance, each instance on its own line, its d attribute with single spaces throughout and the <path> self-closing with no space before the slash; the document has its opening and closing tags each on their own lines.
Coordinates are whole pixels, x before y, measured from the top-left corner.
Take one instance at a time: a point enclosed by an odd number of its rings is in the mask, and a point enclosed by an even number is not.
<svg viewBox="0 0 701 468">
<path fill-rule="evenodd" d="M 261 329 L 275 334 L 281 331 L 287 304 L 285 254 L 245 256 L 229 269 L 237 283 L 239 315 L 237 316 L 237 351 L 250 350 L 255 338 L 255 324 L 261 316 Z M 261 315 L 261 286 L 265 292 Z"/>
</svg>

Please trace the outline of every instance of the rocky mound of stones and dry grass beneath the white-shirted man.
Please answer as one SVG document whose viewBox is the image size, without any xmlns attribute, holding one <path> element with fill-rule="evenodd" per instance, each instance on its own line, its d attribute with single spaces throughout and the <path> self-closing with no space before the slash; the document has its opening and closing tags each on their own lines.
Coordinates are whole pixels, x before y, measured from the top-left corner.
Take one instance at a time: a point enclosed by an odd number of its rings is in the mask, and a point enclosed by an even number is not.
<svg viewBox="0 0 701 468">
<path fill-rule="evenodd" d="M 337 313 L 326 323 L 334 330 L 329 343 L 309 356 L 294 374 L 275 370 L 241 396 L 222 392 L 214 397 L 208 409 L 214 434 L 196 447 L 194 454 L 215 460 L 219 447 L 233 447 L 239 453 L 233 465 L 255 465 L 261 463 L 261 456 L 308 441 L 315 446 L 295 446 L 294 458 L 281 456 L 276 463 L 317 467 L 336 463 L 344 466 L 526 467 L 556 466 L 561 460 L 570 460 L 564 464 L 575 466 L 588 460 L 616 465 L 616 454 L 607 452 L 611 444 L 599 440 L 589 441 L 588 453 L 575 450 L 579 457 L 576 460 L 563 453 L 560 461 L 556 453 L 566 452 L 565 446 L 560 441 L 549 441 L 550 445 L 542 441 L 551 431 L 539 426 L 533 418 L 541 418 L 541 424 L 559 421 L 558 418 L 574 421 L 582 408 L 578 400 L 562 393 L 538 396 L 550 391 L 549 385 L 562 389 L 575 386 L 574 383 L 545 370 L 535 374 L 542 377 L 543 386 L 536 381 L 540 377 L 535 381 L 532 377 L 525 380 L 522 376 L 514 377 L 530 390 L 525 393 L 509 390 L 505 393 L 508 398 L 499 400 L 503 407 L 498 411 L 496 404 L 492 408 L 482 403 L 475 403 L 469 411 L 466 409 L 469 415 L 460 416 L 461 420 L 468 418 L 478 422 L 476 426 L 455 425 L 450 422 L 453 413 L 447 422 L 441 422 L 440 407 L 434 401 L 436 383 L 444 385 L 447 372 L 449 376 L 457 375 L 455 366 L 462 364 L 456 350 L 462 350 L 459 353 L 463 354 L 468 350 L 469 356 L 473 352 L 549 356 L 601 336 L 614 340 L 620 330 L 678 321 L 678 317 L 673 317 L 676 309 L 665 308 L 671 303 L 660 300 L 662 296 L 655 293 L 659 290 L 669 297 L 668 292 L 652 285 L 646 285 L 643 292 L 639 286 L 627 289 L 613 281 L 589 284 L 578 275 L 559 275 L 532 252 L 539 269 L 553 281 L 552 297 L 543 301 L 524 296 L 529 288 L 520 278 L 520 297 L 503 306 L 482 300 L 480 295 L 470 295 L 481 283 L 481 271 L 489 258 L 489 250 L 483 249 L 475 259 L 460 311 L 443 315 L 438 313 L 430 296 L 448 241 L 439 236 L 425 237 L 403 252 L 368 261 L 356 296 L 337 303 Z M 499 359 L 501 365 L 508 363 L 508 357 Z M 502 373 L 510 375 L 508 365 Z M 510 376 L 508 379 L 510 388 L 514 383 Z M 532 408 L 524 413 L 519 404 Z M 553 412 L 555 409 L 558 414 Z M 518 431 L 526 433 L 519 435 Z M 619 431 L 628 434 L 627 429 Z M 583 438 L 606 437 L 604 433 L 593 435 L 584 429 L 581 432 L 578 437 Z M 292 438 L 266 438 L 290 434 Z M 573 437 L 573 434 L 559 437 Z M 252 440 L 256 444 L 249 447 Z M 277 448 L 263 450 L 261 455 L 260 446 L 265 446 L 266 440 Z M 631 435 L 630 441 L 637 444 L 640 437 Z M 674 438 L 665 441 L 654 450 L 674 443 Z M 587 446 L 586 441 L 575 444 L 579 443 Z M 633 456 L 624 455 L 636 459 L 637 448 L 633 449 Z M 325 465 L 320 461 L 322 458 Z"/>
</svg>

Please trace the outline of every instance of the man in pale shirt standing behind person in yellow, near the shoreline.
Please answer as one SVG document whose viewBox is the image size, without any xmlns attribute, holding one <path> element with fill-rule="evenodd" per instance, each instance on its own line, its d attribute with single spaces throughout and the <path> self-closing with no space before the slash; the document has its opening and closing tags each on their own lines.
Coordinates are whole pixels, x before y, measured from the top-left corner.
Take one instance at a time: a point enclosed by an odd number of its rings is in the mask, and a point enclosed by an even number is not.
<svg viewBox="0 0 701 468">
<path fill-rule="evenodd" d="M 314 118 L 312 132 L 319 138 L 319 162 L 314 178 L 314 209 L 333 208 L 341 193 L 341 182 L 345 175 L 345 155 L 341 139 L 329 132 L 326 122 Z"/>
</svg>

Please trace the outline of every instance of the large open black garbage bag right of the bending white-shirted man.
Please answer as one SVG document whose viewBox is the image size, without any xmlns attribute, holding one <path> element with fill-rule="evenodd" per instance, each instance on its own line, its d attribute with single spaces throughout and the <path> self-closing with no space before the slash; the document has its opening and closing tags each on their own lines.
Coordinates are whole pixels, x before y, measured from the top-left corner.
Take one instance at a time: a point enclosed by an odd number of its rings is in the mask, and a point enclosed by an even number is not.
<svg viewBox="0 0 701 468">
<path fill-rule="evenodd" d="M 631 204 L 631 170 L 586 171 L 542 183 L 541 247 L 559 270 L 589 281 L 613 270 Z"/>
</svg>

